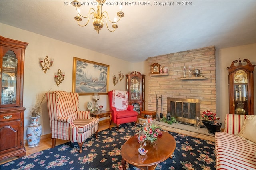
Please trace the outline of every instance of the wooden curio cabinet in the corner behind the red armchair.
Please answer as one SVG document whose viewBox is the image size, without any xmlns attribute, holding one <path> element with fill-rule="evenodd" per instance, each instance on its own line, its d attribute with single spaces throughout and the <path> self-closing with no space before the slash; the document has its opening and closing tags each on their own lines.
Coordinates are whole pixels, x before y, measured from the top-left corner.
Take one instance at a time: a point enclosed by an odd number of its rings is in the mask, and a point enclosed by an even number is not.
<svg viewBox="0 0 256 170">
<path fill-rule="evenodd" d="M 140 114 L 145 110 L 145 75 L 133 71 L 126 74 L 126 91 L 129 93 L 129 105 L 134 106 L 134 111 Z"/>
</svg>

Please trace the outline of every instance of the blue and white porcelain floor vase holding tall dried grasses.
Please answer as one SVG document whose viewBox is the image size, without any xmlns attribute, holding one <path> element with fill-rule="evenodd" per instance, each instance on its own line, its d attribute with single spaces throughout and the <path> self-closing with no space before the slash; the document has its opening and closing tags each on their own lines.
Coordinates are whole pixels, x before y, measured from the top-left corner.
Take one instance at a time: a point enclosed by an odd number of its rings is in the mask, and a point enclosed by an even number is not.
<svg viewBox="0 0 256 170">
<path fill-rule="evenodd" d="M 36 103 L 31 109 L 31 123 L 27 128 L 28 147 L 38 146 L 41 140 L 42 125 L 38 122 L 38 120 L 41 114 L 42 103 L 46 98 L 45 94 L 46 93 L 36 96 Z"/>
</svg>

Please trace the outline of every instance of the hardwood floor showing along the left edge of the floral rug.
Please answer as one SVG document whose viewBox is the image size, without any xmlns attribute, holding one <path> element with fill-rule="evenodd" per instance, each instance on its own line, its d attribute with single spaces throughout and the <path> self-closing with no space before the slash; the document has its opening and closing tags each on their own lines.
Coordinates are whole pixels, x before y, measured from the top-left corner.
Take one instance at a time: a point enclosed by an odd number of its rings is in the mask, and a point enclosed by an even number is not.
<svg viewBox="0 0 256 170">
<path fill-rule="evenodd" d="M 114 127 L 114 126 L 115 125 L 111 125 L 110 127 Z M 100 122 L 100 126 L 99 126 L 99 130 L 98 131 L 100 132 L 100 131 L 105 130 L 107 128 L 108 128 L 108 121 L 104 121 L 102 123 Z M 57 139 L 56 140 L 56 146 L 58 146 L 60 144 L 64 144 L 66 142 L 69 142 L 69 141 L 68 140 Z M 34 148 L 29 148 L 28 144 L 24 144 L 24 145 L 25 145 L 25 148 L 26 148 L 26 155 L 30 155 L 30 154 L 33 154 L 33 153 L 36 153 L 36 152 L 39 152 L 39 151 L 51 148 L 52 147 L 51 134 L 41 136 L 41 140 L 40 140 L 39 145 L 34 147 Z M 15 159 L 18 159 L 18 158 L 17 157 L 8 158 L 8 159 L 5 159 L 5 160 L 2 160 L 0 162 L 0 164 L 4 164 L 6 162 L 10 162 L 10 161 L 15 160 Z"/>
</svg>

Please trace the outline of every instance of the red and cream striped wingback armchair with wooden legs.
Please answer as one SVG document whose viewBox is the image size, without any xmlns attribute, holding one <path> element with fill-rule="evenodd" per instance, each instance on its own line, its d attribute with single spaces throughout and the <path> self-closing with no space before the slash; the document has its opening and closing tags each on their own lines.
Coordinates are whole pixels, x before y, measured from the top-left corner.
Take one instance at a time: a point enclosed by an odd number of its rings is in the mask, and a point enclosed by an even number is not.
<svg viewBox="0 0 256 170">
<path fill-rule="evenodd" d="M 99 119 L 91 118 L 90 111 L 79 111 L 78 93 L 52 91 L 46 93 L 46 101 L 52 131 L 52 148 L 56 139 L 77 142 L 82 152 L 84 141 L 99 128 Z"/>
</svg>

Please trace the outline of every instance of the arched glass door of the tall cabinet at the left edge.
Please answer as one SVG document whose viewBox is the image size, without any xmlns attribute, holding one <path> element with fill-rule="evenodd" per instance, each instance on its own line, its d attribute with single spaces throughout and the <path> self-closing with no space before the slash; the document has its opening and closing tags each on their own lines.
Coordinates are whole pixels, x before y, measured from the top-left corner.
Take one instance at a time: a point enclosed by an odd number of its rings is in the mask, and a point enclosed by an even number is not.
<svg viewBox="0 0 256 170">
<path fill-rule="evenodd" d="M 18 59 L 13 51 L 2 57 L 1 105 L 16 104 Z"/>
</svg>

